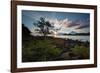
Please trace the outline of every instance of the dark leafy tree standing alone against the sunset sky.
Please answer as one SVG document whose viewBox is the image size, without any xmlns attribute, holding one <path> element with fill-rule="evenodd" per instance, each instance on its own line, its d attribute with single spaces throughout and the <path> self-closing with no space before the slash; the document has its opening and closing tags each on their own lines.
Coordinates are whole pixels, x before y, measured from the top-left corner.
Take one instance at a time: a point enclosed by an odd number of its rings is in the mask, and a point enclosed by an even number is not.
<svg viewBox="0 0 100 73">
<path fill-rule="evenodd" d="M 44 37 L 50 32 L 50 29 L 53 27 L 49 21 L 46 21 L 45 18 L 40 17 L 40 20 L 37 23 L 33 23 L 34 26 L 38 27 L 38 31 L 43 34 Z"/>
</svg>

